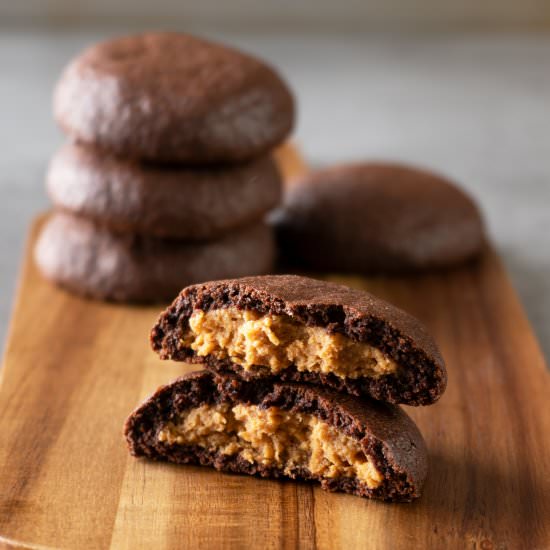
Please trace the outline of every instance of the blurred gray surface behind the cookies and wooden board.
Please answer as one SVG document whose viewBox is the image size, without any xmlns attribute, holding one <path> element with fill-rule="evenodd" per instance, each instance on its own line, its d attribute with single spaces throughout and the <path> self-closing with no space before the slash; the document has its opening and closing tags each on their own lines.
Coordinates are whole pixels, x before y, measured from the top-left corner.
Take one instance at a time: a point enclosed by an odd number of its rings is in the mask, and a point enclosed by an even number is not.
<svg viewBox="0 0 550 550">
<path fill-rule="evenodd" d="M 0 30 L 2 340 L 25 233 L 47 205 L 43 176 L 62 140 L 50 115 L 54 82 L 83 46 L 129 29 L 6 21 Z M 398 159 L 466 187 L 484 209 L 548 357 L 550 35 L 352 27 L 180 28 L 250 50 L 281 69 L 296 91 L 296 140 L 311 164 Z"/>
</svg>

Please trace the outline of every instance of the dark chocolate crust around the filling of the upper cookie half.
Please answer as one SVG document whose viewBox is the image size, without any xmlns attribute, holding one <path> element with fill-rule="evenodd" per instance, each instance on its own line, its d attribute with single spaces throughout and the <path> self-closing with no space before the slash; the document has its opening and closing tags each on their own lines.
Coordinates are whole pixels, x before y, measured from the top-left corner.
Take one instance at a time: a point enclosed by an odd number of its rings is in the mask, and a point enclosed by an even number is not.
<svg viewBox="0 0 550 550">
<path fill-rule="evenodd" d="M 429 405 L 445 391 L 445 363 L 433 338 L 414 317 L 375 296 L 297 275 L 267 275 L 213 281 L 187 287 L 151 331 L 152 348 L 162 359 L 204 364 L 223 374 L 270 377 L 265 369 L 245 371 L 230 359 L 198 356 L 181 342 L 194 310 L 237 307 L 288 315 L 307 326 L 324 327 L 370 344 L 403 368 L 377 378 L 338 378 L 332 374 L 280 371 L 280 380 L 310 382 L 396 404 Z"/>
</svg>

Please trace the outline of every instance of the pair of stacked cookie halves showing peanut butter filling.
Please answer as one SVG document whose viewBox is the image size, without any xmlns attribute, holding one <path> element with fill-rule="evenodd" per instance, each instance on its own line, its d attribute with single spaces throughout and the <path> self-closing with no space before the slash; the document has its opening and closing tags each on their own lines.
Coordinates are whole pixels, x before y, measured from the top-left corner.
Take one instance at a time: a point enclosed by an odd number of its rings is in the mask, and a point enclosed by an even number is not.
<svg viewBox="0 0 550 550">
<path fill-rule="evenodd" d="M 407 313 L 334 283 L 248 277 L 185 288 L 151 343 L 207 370 L 130 415 L 133 455 L 390 501 L 420 495 L 427 451 L 399 404 L 434 403 L 446 370 Z"/>
</svg>

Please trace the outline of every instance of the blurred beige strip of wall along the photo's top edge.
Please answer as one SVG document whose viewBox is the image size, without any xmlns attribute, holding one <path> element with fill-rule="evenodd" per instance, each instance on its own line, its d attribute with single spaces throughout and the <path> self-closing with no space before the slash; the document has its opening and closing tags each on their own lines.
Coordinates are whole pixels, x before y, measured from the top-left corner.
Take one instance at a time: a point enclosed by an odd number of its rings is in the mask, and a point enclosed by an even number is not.
<svg viewBox="0 0 550 550">
<path fill-rule="evenodd" d="M 548 0 L 1 0 L 0 16 L 41 21 L 202 22 L 302 26 L 550 24 Z"/>
</svg>

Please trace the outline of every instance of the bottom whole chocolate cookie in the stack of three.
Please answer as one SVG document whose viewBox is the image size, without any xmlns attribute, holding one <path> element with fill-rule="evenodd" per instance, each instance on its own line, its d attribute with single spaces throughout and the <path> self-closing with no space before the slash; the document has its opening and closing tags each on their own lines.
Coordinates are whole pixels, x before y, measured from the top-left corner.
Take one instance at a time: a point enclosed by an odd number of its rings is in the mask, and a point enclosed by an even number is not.
<svg viewBox="0 0 550 550">
<path fill-rule="evenodd" d="M 204 279 L 266 273 L 271 230 L 255 224 L 223 239 L 186 243 L 119 235 L 70 214 L 55 213 L 36 243 L 45 277 L 84 296 L 117 302 L 160 302 Z"/>
</svg>

